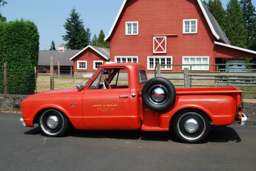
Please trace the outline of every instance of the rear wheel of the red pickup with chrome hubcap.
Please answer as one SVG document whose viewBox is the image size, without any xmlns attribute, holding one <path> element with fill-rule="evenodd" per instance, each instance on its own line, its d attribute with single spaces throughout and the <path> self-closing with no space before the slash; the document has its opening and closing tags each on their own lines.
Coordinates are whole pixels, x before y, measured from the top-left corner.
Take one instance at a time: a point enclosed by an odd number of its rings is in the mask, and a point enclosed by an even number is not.
<svg viewBox="0 0 256 171">
<path fill-rule="evenodd" d="M 208 136 L 210 121 L 201 111 L 186 110 L 174 119 L 173 129 L 175 135 L 183 142 L 198 143 Z"/>
</svg>

